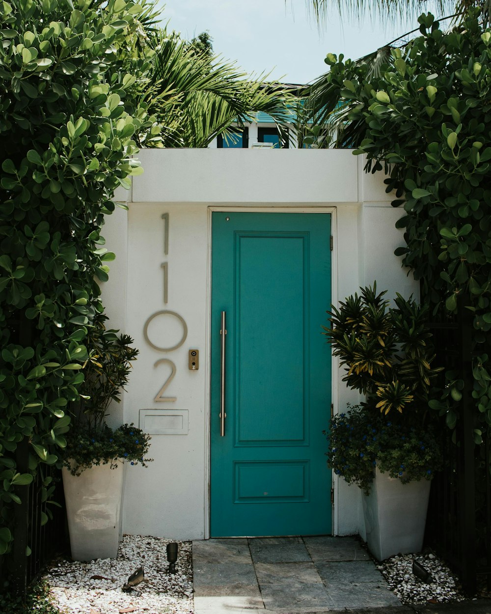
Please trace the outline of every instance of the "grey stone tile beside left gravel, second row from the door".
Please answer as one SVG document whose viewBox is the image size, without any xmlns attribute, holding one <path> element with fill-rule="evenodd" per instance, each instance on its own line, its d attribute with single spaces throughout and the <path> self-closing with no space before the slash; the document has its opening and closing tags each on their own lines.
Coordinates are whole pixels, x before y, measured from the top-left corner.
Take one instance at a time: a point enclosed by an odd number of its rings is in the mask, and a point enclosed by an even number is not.
<svg viewBox="0 0 491 614">
<path fill-rule="evenodd" d="M 252 563 L 203 563 L 193 565 L 193 585 L 196 594 L 252 594 L 251 588 L 257 589 L 256 572 Z M 233 588 L 230 588 L 233 587 Z M 215 591 L 208 589 L 215 588 Z M 230 589 L 230 590 L 229 590 Z"/>
</svg>

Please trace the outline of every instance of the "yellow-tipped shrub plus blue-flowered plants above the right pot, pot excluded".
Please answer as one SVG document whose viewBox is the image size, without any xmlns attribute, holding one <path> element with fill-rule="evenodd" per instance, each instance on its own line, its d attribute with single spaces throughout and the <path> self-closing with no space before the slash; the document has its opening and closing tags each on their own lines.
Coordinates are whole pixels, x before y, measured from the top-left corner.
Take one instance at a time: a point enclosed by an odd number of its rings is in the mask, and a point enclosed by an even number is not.
<svg viewBox="0 0 491 614">
<path fill-rule="evenodd" d="M 331 418 L 327 456 L 336 475 L 368 494 L 376 466 L 402 483 L 431 480 L 441 468 L 436 412 L 429 406 L 441 368 L 434 364 L 427 306 L 396 295 L 389 308 L 375 283 L 360 290 L 328 311 L 330 327 L 324 327 L 343 381 L 366 396 Z"/>
</svg>

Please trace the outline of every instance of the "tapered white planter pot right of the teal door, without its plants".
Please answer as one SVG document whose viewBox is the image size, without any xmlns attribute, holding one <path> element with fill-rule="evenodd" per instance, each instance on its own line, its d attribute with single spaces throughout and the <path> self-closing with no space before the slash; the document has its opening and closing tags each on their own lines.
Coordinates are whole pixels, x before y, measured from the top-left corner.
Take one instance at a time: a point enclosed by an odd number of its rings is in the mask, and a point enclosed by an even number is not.
<svg viewBox="0 0 491 614">
<path fill-rule="evenodd" d="M 366 543 L 376 559 L 421 550 L 430 485 L 429 480 L 403 484 L 376 468 L 370 494 L 363 495 Z"/>
</svg>

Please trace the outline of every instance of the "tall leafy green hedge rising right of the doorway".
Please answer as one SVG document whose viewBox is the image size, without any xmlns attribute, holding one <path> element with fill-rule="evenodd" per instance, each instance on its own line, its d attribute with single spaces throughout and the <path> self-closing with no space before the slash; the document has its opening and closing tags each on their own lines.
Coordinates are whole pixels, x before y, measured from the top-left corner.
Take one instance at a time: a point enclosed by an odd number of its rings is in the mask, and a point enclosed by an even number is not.
<svg viewBox="0 0 491 614">
<path fill-rule="evenodd" d="M 389 173 L 387 192 L 395 190 L 392 204 L 404 209 L 397 227 L 406 245 L 395 253 L 420 281 L 422 301 L 438 317 L 473 318 L 468 392 L 479 444 L 491 427 L 491 29 L 478 7 L 449 31 L 429 13 L 418 21 L 421 36 L 392 49 L 375 71 L 328 54 L 325 80 L 366 171 Z M 446 373 L 438 404 L 450 429 L 460 417 L 458 377 Z"/>
</svg>

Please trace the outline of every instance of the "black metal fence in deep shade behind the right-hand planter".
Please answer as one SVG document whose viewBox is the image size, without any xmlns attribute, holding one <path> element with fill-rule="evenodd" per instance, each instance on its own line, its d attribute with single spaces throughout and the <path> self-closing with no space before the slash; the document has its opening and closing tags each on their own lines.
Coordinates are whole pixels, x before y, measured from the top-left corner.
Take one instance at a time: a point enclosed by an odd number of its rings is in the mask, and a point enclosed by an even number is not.
<svg viewBox="0 0 491 614">
<path fill-rule="evenodd" d="M 431 324 L 436 363 L 455 371 L 464 387 L 455 431 L 443 426 L 445 468 L 431 486 L 425 543 L 455 570 L 468 594 L 475 594 L 479 577 L 491 580 L 491 440 L 474 443 L 476 400 L 473 391 L 475 330 L 466 309 L 454 322 Z"/>
</svg>

